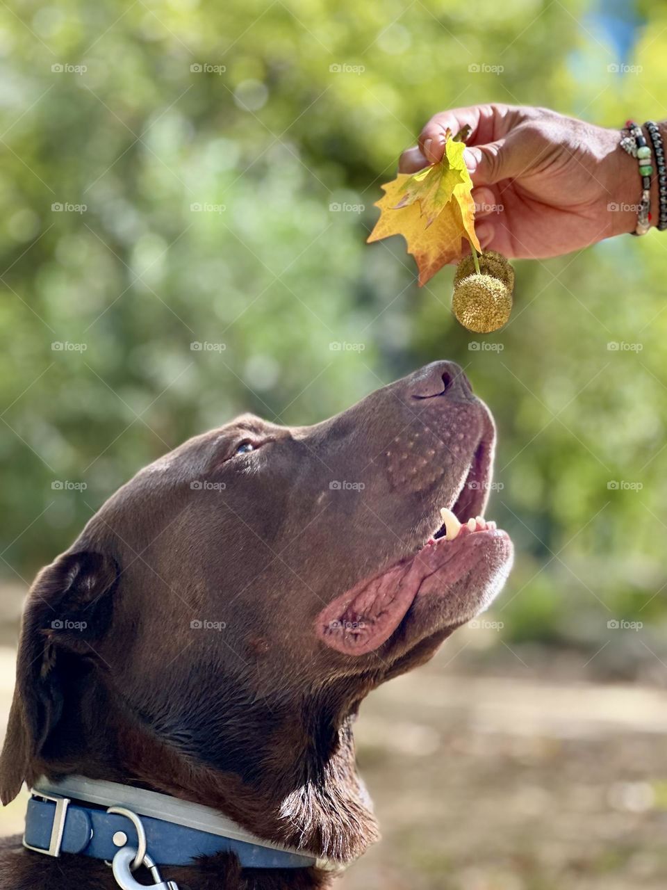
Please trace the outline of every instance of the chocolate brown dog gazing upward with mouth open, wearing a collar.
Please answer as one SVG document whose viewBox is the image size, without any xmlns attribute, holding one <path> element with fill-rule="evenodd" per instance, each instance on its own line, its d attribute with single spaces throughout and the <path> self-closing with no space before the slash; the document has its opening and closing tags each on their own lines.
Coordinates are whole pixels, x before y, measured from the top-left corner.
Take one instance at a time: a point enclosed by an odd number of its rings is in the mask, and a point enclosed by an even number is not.
<svg viewBox="0 0 667 890">
<path fill-rule="evenodd" d="M 314 426 L 239 417 L 118 490 L 28 596 L 0 793 L 35 790 L 0 887 L 329 886 L 378 837 L 361 701 L 510 570 L 493 455 L 439 361 Z"/>
</svg>

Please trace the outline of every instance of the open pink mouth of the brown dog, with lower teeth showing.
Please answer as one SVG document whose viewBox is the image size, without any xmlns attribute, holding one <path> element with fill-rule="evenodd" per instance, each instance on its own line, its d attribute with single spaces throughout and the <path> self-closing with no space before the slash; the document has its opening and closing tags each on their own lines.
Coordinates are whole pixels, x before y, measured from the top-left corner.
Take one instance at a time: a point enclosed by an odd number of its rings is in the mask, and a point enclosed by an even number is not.
<svg viewBox="0 0 667 890">
<path fill-rule="evenodd" d="M 346 655 L 424 635 L 474 618 L 510 571 L 506 532 L 483 517 L 491 481 L 493 439 L 482 440 L 450 503 L 435 507 L 430 533 L 416 552 L 336 597 L 317 617 L 317 635 Z"/>
</svg>

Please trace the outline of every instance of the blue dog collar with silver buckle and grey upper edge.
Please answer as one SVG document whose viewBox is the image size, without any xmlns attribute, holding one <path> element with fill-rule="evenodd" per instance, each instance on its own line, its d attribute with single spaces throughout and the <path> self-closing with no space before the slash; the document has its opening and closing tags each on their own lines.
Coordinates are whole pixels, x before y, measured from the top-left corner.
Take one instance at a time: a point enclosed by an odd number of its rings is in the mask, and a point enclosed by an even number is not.
<svg viewBox="0 0 667 890">
<path fill-rule="evenodd" d="M 155 876 L 157 866 L 189 865 L 196 856 L 217 853 L 236 854 L 245 869 L 343 867 L 255 837 L 210 807 L 155 791 L 68 776 L 60 782 L 42 779 L 31 793 L 23 845 L 37 853 L 111 862 L 127 848 L 125 854 L 133 851 L 132 868 L 143 862 Z"/>
</svg>

